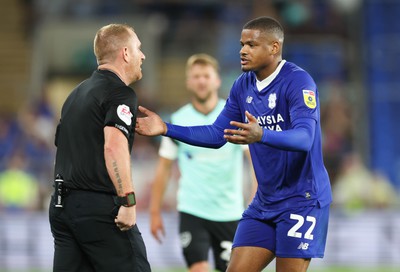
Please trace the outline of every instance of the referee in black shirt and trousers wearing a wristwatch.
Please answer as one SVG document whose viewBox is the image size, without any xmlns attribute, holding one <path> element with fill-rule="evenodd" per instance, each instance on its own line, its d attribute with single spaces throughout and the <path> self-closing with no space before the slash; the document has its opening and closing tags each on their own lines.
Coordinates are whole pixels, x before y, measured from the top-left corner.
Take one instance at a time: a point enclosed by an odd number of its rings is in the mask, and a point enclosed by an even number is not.
<svg viewBox="0 0 400 272">
<path fill-rule="evenodd" d="M 62 107 L 49 210 L 55 272 L 151 271 L 130 164 L 137 98 L 128 85 L 142 78 L 140 46 L 132 27 L 102 27 L 98 69 Z"/>
</svg>

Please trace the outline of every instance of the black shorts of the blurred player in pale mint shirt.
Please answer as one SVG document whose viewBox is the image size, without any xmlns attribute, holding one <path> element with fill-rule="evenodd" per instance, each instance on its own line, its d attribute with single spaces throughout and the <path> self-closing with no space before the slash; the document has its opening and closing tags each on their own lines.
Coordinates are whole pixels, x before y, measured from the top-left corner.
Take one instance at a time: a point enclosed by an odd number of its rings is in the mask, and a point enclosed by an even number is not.
<svg viewBox="0 0 400 272">
<path fill-rule="evenodd" d="M 216 222 L 183 212 L 179 213 L 179 219 L 179 235 L 187 266 L 207 261 L 212 248 L 215 268 L 225 271 L 239 221 Z"/>
</svg>

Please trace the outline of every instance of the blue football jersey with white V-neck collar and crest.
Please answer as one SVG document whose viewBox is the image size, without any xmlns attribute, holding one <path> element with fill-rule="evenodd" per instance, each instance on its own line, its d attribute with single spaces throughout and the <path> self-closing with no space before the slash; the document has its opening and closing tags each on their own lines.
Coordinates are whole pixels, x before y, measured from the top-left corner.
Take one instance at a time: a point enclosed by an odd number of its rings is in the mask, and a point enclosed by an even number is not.
<svg viewBox="0 0 400 272">
<path fill-rule="evenodd" d="M 234 82 L 225 111 L 248 122 L 250 112 L 264 129 L 285 131 L 298 118 L 316 121 L 309 151 L 287 151 L 263 143 L 250 144 L 258 191 L 253 204 L 262 210 L 331 203 L 331 187 L 322 156 L 318 90 L 311 76 L 291 62 L 283 61 L 278 73 L 261 90 L 255 73 L 244 72 Z"/>
</svg>

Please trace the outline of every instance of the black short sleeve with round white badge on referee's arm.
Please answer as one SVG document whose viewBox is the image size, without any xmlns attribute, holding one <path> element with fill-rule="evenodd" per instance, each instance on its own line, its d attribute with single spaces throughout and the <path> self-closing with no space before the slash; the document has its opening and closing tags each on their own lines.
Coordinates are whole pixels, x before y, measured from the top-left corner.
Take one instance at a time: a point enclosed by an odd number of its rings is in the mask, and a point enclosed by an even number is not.
<svg viewBox="0 0 400 272">
<path fill-rule="evenodd" d="M 106 112 L 104 126 L 119 129 L 130 141 L 135 132 L 137 97 L 128 86 L 110 91 L 103 107 Z"/>
</svg>

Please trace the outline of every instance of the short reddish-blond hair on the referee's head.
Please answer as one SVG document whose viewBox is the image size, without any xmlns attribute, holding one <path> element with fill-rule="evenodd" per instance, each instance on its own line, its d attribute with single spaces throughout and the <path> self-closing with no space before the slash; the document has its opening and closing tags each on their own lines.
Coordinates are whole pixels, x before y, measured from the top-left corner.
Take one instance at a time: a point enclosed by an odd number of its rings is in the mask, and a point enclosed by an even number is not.
<svg viewBox="0 0 400 272">
<path fill-rule="evenodd" d="M 93 50 L 99 65 L 114 60 L 118 49 L 126 45 L 131 38 L 130 30 L 134 32 L 134 29 L 126 24 L 109 24 L 97 31 Z"/>
</svg>

